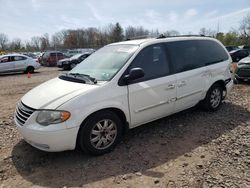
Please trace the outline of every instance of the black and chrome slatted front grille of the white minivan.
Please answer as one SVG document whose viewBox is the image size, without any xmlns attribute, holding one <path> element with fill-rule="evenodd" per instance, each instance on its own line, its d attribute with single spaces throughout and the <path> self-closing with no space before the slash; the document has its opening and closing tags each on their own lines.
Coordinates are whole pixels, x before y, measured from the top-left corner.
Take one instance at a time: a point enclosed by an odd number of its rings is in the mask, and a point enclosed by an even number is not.
<svg viewBox="0 0 250 188">
<path fill-rule="evenodd" d="M 16 106 L 16 112 L 15 112 L 15 117 L 16 117 L 17 122 L 21 126 L 23 126 L 34 111 L 35 109 L 28 107 L 22 102 L 19 102 Z"/>
</svg>

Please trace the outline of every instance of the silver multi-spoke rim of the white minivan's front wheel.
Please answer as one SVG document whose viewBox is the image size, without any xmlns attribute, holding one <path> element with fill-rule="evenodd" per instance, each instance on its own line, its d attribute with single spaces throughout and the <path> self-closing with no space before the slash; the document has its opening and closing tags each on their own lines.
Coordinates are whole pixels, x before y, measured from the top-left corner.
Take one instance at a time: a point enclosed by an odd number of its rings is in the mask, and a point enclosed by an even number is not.
<svg viewBox="0 0 250 188">
<path fill-rule="evenodd" d="M 91 145 L 96 149 L 106 149 L 111 146 L 117 136 L 117 125 L 110 119 L 97 122 L 90 134 Z"/>
</svg>

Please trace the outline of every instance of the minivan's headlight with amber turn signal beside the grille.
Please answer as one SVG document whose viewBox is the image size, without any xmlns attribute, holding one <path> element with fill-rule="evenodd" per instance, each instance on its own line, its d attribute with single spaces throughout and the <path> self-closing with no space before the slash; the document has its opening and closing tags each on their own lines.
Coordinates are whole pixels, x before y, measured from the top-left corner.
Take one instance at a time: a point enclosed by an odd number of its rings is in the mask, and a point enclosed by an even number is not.
<svg viewBox="0 0 250 188">
<path fill-rule="evenodd" d="M 39 112 L 36 121 L 37 123 L 47 126 L 50 124 L 62 123 L 69 119 L 70 112 L 55 111 L 55 110 L 42 110 Z"/>
</svg>

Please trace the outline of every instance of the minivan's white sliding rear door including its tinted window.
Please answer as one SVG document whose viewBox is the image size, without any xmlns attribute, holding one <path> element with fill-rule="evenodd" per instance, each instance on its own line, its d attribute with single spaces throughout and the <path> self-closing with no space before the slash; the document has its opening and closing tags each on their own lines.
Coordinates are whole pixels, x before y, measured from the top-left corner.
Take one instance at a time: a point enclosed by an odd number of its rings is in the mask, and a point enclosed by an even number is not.
<svg viewBox="0 0 250 188">
<path fill-rule="evenodd" d="M 175 112 L 178 112 L 194 106 L 202 99 L 208 73 L 200 59 L 197 41 L 176 41 L 166 45 L 176 72 Z"/>
</svg>

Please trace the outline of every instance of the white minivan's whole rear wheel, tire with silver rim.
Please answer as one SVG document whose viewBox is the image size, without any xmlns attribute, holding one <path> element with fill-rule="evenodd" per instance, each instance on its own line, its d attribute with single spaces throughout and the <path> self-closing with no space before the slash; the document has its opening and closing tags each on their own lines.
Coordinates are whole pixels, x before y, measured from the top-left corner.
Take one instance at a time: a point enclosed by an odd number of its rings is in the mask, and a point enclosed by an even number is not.
<svg viewBox="0 0 250 188">
<path fill-rule="evenodd" d="M 203 108 L 209 112 L 217 111 L 221 106 L 222 96 L 222 87 L 219 84 L 212 85 L 202 103 Z"/>
</svg>

